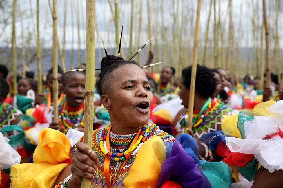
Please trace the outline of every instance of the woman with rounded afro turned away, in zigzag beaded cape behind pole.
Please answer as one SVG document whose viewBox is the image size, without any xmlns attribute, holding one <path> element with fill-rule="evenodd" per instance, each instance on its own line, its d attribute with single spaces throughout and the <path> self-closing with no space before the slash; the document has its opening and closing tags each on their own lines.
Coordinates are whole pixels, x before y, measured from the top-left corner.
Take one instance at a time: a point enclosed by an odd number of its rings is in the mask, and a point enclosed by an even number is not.
<svg viewBox="0 0 283 188">
<path fill-rule="evenodd" d="M 183 101 L 184 109 L 180 110 L 175 117 L 175 128 L 178 134 L 184 133 L 188 124 L 191 71 L 191 66 L 182 70 L 179 87 L 180 98 Z M 217 84 L 212 70 L 197 65 L 193 123 L 192 129 L 187 129 L 187 131 L 196 139 L 199 145 L 199 157 L 209 161 L 221 161 L 221 157 L 215 153 L 217 146 L 212 148 L 209 143 L 212 137 L 223 134 L 222 120 L 224 115 L 232 115 L 232 109 L 228 105 L 219 100 L 215 102 L 211 98 L 216 91 L 216 86 Z"/>
</svg>

